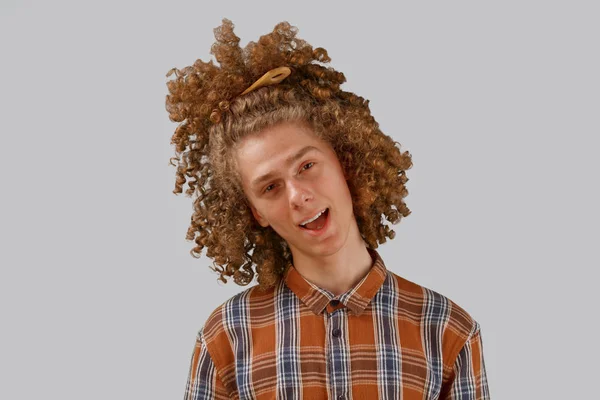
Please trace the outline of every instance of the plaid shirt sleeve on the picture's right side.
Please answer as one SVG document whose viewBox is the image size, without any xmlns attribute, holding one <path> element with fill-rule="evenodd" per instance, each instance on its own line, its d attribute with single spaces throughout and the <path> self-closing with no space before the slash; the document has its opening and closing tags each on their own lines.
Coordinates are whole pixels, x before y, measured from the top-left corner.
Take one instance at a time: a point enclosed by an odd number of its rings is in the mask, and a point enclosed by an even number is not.
<svg viewBox="0 0 600 400">
<path fill-rule="evenodd" d="M 446 400 L 489 400 L 490 391 L 483 360 L 481 330 L 466 341 L 454 362 L 452 379 L 448 382 Z"/>
</svg>

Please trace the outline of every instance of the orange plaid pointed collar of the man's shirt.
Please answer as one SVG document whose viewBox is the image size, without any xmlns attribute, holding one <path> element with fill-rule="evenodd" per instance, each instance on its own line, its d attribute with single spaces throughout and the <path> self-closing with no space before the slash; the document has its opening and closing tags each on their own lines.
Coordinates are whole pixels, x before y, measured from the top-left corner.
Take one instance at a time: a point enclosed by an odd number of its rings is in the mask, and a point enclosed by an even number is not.
<svg viewBox="0 0 600 400">
<path fill-rule="evenodd" d="M 348 307 L 355 315 L 360 315 L 365 310 L 387 276 L 385 264 L 379 253 L 369 247 L 367 250 L 373 260 L 371 269 L 353 288 L 338 297 L 340 303 Z M 307 281 L 293 264 L 290 264 L 285 272 L 284 281 L 287 287 L 317 315 L 321 314 L 329 302 L 335 298 L 330 291 Z"/>
</svg>

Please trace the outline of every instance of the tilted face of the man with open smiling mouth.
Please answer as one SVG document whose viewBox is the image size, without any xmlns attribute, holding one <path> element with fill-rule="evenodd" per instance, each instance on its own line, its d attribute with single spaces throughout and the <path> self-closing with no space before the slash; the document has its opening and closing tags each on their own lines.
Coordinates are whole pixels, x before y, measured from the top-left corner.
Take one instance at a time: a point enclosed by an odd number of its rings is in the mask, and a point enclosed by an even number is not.
<svg viewBox="0 0 600 400">
<path fill-rule="evenodd" d="M 270 225 L 292 254 L 326 256 L 344 246 L 356 224 L 352 198 L 334 150 L 311 128 L 290 122 L 269 127 L 246 137 L 235 157 L 254 217 Z M 325 209 L 319 231 L 299 226 Z"/>
</svg>

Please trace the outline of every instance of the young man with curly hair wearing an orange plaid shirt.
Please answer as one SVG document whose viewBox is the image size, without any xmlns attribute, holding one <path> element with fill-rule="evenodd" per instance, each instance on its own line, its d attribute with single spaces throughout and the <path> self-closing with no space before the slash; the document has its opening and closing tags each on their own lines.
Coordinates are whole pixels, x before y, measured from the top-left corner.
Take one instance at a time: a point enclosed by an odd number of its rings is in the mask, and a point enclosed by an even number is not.
<svg viewBox="0 0 600 400">
<path fill-rule="evenodd" d="M 185 399 L 489 399 L 480 325 L 375 250 L 394 238 L 381 217 L 410 214 L 410 154 L 295 34 L 281 23 L 242 50 L 223 20 L 220 66 L 168 83 L 192 254 L 259 283 L 199 330 Z"/>
</svg>

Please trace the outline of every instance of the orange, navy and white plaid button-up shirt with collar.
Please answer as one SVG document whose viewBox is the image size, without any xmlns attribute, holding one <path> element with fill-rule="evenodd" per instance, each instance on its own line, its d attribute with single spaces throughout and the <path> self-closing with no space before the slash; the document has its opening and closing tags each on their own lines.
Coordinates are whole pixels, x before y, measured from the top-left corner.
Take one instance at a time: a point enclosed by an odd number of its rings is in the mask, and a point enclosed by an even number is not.
<svg viewBox="0 0 600 400">
<path fill-rule="evenodd" d="M 184 400 L 489 399 L 480 325 L 368 251 L 368 274 L 339 297 L 290 266 L 217 307 Z"/>
</svg>

